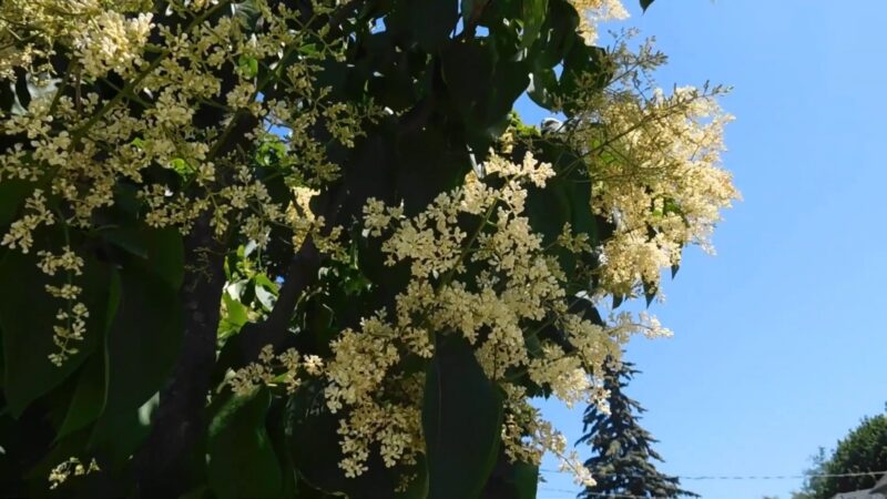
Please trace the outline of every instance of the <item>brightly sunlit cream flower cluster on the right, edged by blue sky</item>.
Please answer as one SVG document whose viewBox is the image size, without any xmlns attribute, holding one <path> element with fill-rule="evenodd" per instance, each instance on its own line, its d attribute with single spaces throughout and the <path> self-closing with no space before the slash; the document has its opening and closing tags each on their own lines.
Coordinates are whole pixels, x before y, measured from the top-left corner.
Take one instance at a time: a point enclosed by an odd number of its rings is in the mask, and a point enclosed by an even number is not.
<svg viewBox="0 0 887 499">
<path fill-rule="evenodd" d="M 740 197 L 720 166 L 732 120 L 715 101 L 720 92 L 656 90 L 648 101 L 614 99 L 599 111 L 604 126 L 583 139 L 605 143 L 591 161 L 592 208 L 616 226 L 602 248 L 603 292 L 632 295 L 642 283 L 657 289 L 684 246 L 711 252 L 721 210 Z"/>
</svg>

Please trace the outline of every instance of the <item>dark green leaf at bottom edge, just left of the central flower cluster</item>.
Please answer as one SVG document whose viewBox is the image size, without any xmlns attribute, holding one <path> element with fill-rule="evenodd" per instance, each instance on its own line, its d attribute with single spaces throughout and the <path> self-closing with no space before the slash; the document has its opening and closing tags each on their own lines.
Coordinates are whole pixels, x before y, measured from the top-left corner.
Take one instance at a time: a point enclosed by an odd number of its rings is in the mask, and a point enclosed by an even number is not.
<svg viewBox="0 0 887 499">
<path fill-rule="evenodd" d="M 248 396 L 232 396 L 213 417 L 206 475 L 216 497 L 281 496 L 283 473 L 265 428 L 269 405 L 268 391 L 258 389 Z"/>
</svg>

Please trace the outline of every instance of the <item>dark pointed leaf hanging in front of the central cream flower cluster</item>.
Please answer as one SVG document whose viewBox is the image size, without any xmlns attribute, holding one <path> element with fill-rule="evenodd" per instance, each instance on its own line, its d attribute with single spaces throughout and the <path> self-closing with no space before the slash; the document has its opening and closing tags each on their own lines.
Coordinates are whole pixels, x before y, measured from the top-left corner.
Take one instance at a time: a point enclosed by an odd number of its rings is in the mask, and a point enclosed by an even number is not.
<svg viewBox="0 0 887 499">
<path fill-rule="evenodd" d="M 499 452 L 502 395 L 462 338 L 443 337 L 426 374 L 429 499 L 480 497 Z"/>
</svg>

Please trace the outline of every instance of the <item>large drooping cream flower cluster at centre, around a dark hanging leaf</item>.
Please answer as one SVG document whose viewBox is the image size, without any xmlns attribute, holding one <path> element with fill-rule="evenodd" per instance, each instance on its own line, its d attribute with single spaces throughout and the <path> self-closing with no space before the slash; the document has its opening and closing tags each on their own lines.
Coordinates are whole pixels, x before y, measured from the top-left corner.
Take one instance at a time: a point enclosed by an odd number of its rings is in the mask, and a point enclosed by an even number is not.
<svg viewBox="0 0 887 499">
<path fill-rule="evenodd" d="M 514 376 L 526 374 L 567 404 L 599 403 L 605 394 L 593 373 L 618 358 L 620 342 L 641 327 L 604 328 L 567 312 L 568 277 L 523 215 L 528 185 L 544 186 L 554 175 L 551 165 L 532 154 L 520 163 L 492 154 L 485 166 L 485 180 L 470 173 L 462 187 L 438 195 L 414 217 L 376 200 L 365 206 L 365 234 L 387 234 L 383 251 L 388 265 L 409 264 L 411 278 L 397 296 L 394 317 L 370 317 L 359 332 L 346 330 L 333 344 L 327 405 L 334 411 L 347 409 L 339 434 L 348 476 L 366 470 L 374 444 L 380 445 L 387 466 L 411 462 L 422 451 L 421 397 L 395 404 L 388 396 L 420 393 L 421 378 L 399 376 L 397 365 L 408 355 L 431 357 L 438 335 L 459 335 L 509 395 L 510 422 L 503 428 L 509 456 L 538 464 L 544 450 L 554 451 L 587 481 L 588 471 L 562 452 L 561 440 L 540 429 L 549 426 L 529 409 L 528 394 Z M 490 186 L 491 179 L 497 187 Z M 475 216 L 473 231 L 460 226 L 466 215 Z M 571 353 L 537 339 L 549 324 L 563 330 Z M 538 350 L 528 347 L 532 342 L 539 343 Z"/>
</svg>

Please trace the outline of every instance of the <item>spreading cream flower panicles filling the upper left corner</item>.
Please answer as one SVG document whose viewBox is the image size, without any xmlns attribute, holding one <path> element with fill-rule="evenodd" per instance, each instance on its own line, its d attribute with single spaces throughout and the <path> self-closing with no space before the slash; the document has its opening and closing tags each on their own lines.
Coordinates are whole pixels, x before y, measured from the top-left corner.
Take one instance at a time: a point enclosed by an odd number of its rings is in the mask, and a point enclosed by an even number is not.
<svg viewBox="0 0 887 499">
<path fill-rule="evenodd" d="M 320 61 L 339 59 L 343 41 L 316 48 L 316 33 L 292 28 L 304 22 L 299 11 L 267 0 L 249 2 L 262 29 L 245 30 L 243 12 L 231 3 L 165 2 L 165 23 L 144 0 L 0 3 L 0 79 L 9 85 L 24 74 L 31 96 L 0 114 L 0 134 L 12 142 L 0 153 L 0 183 L 39 186 L 0 245 L 29 253 L 35 232 L 47 227 L 101 235 L 104 211 L 118 207 L 125 185 L 139 204 L 131 210 L 153 227 L 186 234 L 205 216 L 217 237 L 265 247 L 272 227 L 283 225 L 340 253 L 339 232 L 317 234 L 323 218 L 306 226 L 287 216 L 288 201 L 272 198 L 255 169 L 256 150 L 275 147 L 287 185 L 317 187 L 337 175 L 326 147 L 351 147 L 378 112 L 371 102 L 335 102 L 316 84 Z M 317 16 L 329 9 L 314 7 Z M 50 60 L 69 61 L 68 68 Z M 320 128 L 330 140 L 317 139 Z M 232 138 L 246 145 L 231 146 Z M 61 265 L 53 262 L 41 268 Z M 83 330 L 78 276 L 53 286 L 48 292 L 68 303 L 52 356 L 60 364 L 71 342 L 91 332 Z"/>
</svg>

